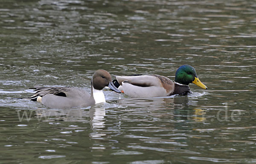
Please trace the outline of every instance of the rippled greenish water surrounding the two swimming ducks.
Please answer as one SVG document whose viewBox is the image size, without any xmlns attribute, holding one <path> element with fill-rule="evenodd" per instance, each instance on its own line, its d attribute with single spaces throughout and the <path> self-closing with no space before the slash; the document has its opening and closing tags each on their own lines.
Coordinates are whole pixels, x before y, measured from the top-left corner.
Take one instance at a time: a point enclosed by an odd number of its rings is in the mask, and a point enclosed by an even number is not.
<svg viewBox="0 0 256 164">
<path fill-rule="evenodd" d="M 1 0 L 1 164 L 256 163 L 252 0 Z M 48 109 L 31 86 L 90 91 L 96 69 L 158 74 L 194 66 L 208 89 Z"/>
</svg>

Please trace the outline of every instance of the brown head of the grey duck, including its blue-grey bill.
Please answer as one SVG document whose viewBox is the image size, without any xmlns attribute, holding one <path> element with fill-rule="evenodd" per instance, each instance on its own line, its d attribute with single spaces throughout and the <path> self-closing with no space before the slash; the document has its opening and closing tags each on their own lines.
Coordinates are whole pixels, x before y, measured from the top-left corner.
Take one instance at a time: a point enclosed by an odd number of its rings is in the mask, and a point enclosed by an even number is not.
<svg viewBox="0 0 256 164">
<path fill-rule="evenodd" d="M 92 86 L 97 90 L 102 90 L 105 86 L 108 86 L 111 90 L 120 93 L 120 91 L 114 86 L 111 75 L 108 71 L 103 69 L 99 69 L 94 72 L 92 77 Z"/>
</svg>

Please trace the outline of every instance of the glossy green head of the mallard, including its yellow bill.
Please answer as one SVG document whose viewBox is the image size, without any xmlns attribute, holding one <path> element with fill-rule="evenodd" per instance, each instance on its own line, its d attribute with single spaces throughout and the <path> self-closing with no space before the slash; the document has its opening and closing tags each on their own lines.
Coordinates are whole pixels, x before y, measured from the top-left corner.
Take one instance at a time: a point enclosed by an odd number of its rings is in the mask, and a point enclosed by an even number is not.
<svg viewBox="0 0 256 164">
<path fill-rule="evenodd" d="M 175 82 L 183 85 L 189 85 L 189 83 L 194 83 L 203 89 L 207 89 L 207 86 L 201 83 L 201 81 L 198 79 L 195 69 L 189 65 L 183 65 L 177 69 L 175 74 Z"/>
</svg>

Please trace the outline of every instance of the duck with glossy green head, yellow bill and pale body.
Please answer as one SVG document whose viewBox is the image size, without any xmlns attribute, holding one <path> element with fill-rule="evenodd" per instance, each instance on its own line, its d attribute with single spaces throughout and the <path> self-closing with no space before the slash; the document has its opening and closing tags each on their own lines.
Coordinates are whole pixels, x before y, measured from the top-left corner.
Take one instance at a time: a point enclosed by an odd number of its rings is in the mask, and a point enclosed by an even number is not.
<svg viewBox="0 0 256 164">
<path fill-rule="evenodd" d="M 189 83 L 207 89 L 198 78 L 195 69 L 189 65 L 180 66 L 175 81 L 161 75 L 116 76 L 114 85 L 125 95 L 131 97 L 166 97 L 190 92 Z"/>
</svg>

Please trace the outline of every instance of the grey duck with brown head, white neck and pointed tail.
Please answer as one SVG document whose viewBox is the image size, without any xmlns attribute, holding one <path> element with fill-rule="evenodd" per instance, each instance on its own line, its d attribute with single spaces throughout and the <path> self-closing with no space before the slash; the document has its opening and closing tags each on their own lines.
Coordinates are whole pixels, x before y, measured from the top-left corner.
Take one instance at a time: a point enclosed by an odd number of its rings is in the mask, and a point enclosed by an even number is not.
<svg viewBox="0 0 256 164">
<path fill-rule="evenodd" d="M 65 109 L 73 107 L 86 107 L 106 102 L 102 89 L 108 87 L 114 92 L 121 93 L 114 86 L 111 75 L 99 69 L 91 78 L 91 94 L 85 89 L 77 87 L 40 87 L 35 86 L 35 94 L 27 98 L 37 101 L 48 108 Z"/>
</svg>

